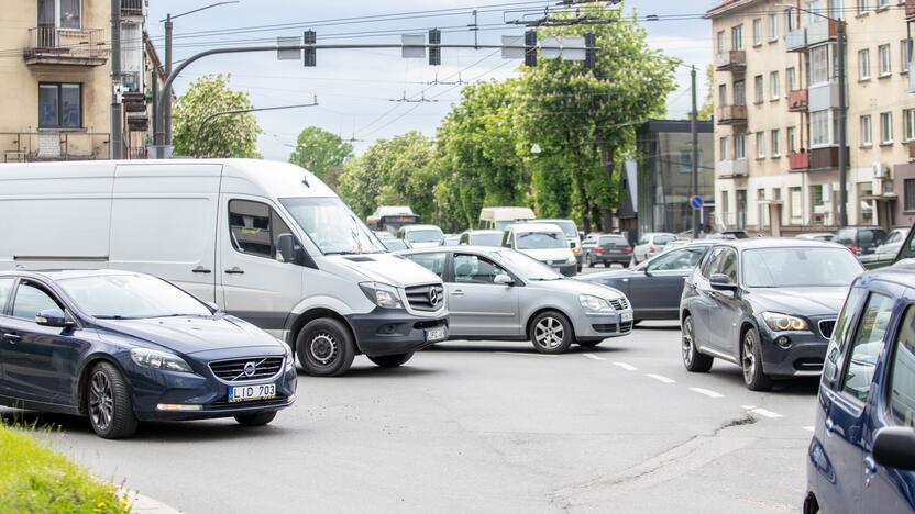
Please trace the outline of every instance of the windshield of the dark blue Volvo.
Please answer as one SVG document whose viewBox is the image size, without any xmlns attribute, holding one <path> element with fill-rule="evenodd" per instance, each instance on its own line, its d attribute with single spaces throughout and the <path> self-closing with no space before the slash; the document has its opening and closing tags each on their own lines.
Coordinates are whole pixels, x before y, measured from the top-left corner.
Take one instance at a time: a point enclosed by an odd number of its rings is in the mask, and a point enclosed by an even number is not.
<svg viewBox="0 0 915 514">
<path fill-rule="evenodd" d="M 79 310 L 100 319 L 212 315 L 196 298 L 148 275 L 80 277 L 58 283 Z"/>
</svg>

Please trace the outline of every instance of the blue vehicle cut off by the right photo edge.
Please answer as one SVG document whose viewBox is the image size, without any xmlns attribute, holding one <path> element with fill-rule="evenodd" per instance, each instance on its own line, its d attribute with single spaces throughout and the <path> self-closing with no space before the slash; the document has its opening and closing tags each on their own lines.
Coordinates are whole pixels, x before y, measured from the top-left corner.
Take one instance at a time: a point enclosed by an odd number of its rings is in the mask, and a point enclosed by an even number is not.
<svg viewBox="0 0 915 514">
<path fill-rule="evenodd" d="M 864 273 L 826 350 L 806 514 L 915 512 L 915 266 Z"/>
</svg>

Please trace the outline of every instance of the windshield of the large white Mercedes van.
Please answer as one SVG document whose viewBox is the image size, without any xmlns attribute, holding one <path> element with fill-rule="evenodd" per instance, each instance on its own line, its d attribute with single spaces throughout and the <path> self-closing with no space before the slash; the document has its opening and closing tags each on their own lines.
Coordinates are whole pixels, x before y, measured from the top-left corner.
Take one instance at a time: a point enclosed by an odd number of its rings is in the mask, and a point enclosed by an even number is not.
<svg viewBox="0 0 915 514">
<path fill-rule="evenodd" d="M 324 255 L 385 250 L 378 238 L 339 198 L 285 198 L 279 202 Z"/>
</svg>

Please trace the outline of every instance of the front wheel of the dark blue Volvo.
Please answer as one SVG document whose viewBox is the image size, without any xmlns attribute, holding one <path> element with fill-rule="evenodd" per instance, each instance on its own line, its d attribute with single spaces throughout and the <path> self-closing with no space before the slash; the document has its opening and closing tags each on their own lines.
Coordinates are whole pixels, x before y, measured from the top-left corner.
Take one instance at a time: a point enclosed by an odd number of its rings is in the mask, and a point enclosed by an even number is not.
<svg viewBox="0 0 915 514">
<path fill-rule="evenodd" d="M 92 368 L 87 383 L 86 411 L 92 429 L 104 439 L 130 437 L 139 422 L 133 413 L 130 390 L 118 368 L 99 362 Z"/>
</svg>

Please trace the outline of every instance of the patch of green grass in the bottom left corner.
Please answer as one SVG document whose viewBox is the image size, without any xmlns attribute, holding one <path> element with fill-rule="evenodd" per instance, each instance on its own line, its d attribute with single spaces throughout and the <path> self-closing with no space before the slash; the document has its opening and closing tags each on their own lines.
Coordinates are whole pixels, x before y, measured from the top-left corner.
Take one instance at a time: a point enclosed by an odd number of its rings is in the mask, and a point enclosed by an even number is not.
<svg viewBox="0 0 915 514">
<path fill-rule="evenodd" d="M 129 513 L 118 488 L 32 437 L 0 423 L 0 513 Z"/>
</svg>

